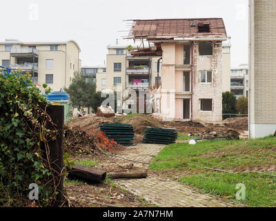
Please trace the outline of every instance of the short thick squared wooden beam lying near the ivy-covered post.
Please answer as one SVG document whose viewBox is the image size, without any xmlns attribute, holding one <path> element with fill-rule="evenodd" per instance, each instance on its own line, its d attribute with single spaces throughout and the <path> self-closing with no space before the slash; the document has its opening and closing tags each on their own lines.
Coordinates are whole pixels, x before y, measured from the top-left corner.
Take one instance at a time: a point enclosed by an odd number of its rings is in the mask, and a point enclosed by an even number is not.
<svg viewBox="0 0 276 221">
<path fill-rule="evenodd" d="M 106 171 L 79 164 L 75 164 L 72 169 L 68 169 L 68 173 L 93 182 L 102 182 L 106 179 Z"/>
</svg>

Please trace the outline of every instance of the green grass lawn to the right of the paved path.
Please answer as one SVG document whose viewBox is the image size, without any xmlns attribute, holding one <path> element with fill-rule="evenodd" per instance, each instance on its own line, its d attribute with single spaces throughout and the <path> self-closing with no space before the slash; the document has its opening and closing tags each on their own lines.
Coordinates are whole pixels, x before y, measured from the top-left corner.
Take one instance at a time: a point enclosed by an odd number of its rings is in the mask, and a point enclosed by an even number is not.
<svg viewBox="0 0 276 221">
<path fill-rule="evenodd" d="M 244 172 L 273 165 L 276 165 L 276 138 L 270 136 L 257 140 L 206 141 L 195 146 L 170 144 L 155 157 L 150 169 L 181 171 L 184 175 L 179 182 L 239 204 L 276 206 L 276 177 Z M 233 171 L 235 174 L 202 167 Z M 246 186 L 246 200 L 236 200 L 237 184 Z"/>
</svg>

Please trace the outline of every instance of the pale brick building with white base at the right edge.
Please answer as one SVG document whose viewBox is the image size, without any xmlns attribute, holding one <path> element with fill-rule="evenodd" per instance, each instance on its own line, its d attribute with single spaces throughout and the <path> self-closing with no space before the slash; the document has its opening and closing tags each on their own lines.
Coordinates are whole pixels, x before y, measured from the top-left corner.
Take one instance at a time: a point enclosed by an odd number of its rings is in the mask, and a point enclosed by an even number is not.
<svg viewBox="0 0 276 221">
<path fill-rule="evenodd" d="M 249 2 L 249 137 L 258 138 L 276 131 L 276 1 Z"/>
</svg>

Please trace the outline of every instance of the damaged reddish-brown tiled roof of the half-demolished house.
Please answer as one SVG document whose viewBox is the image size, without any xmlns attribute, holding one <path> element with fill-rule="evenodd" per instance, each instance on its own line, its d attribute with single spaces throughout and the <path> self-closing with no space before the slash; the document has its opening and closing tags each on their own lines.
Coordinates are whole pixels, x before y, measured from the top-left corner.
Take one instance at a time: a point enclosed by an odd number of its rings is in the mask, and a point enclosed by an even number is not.
<svg viewBox="0 0 276 221">
<path fill-rule="evenodd" d="M 227 38 L 224 20 L 221 18 L 137 19 L 132 21 L 134 23 L 129 37 L 134 39 Z"/>
</svg>

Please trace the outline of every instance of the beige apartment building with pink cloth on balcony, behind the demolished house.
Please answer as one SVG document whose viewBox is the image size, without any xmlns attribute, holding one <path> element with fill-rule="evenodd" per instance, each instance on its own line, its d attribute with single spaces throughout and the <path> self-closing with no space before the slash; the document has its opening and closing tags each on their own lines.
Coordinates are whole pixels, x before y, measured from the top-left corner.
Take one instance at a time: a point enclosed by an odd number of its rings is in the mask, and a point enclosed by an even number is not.
<svg viewBox="0 0 276 221">
<path fill-rule="evenodd" d="M 97 72 L 97 90 L 148 90 L 157 84 L 157 61 L 160 56 L 135 56 L 126 46 L 108 45 L 106 72 Z M 135 48 L 133 48 L 135 50 Z M 161 67 L 161 64 L 160 64 Z M 159 70 L 161 78 L 161 68 Z"/>
</svg>

